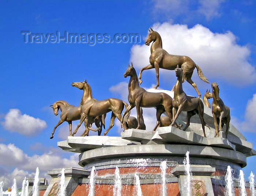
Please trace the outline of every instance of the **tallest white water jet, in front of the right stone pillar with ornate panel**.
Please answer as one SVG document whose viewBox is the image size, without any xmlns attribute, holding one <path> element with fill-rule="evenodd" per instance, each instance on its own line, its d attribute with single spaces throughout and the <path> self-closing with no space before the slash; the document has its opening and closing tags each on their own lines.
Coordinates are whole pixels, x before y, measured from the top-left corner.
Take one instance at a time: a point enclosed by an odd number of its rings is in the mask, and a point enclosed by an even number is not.
<svg viewBox="0 0 256 196">
<path fill-rule="evenodd" d="M 184 189 L 185 195 L 191 196 L 191 180 L 192 180 L 192 173 L 189 163 L 189 151 L 187 151 L 186 156 L 184 158 L 184 167 L 185 167 L 185 179 L 184 179 Z"/>
</svg>

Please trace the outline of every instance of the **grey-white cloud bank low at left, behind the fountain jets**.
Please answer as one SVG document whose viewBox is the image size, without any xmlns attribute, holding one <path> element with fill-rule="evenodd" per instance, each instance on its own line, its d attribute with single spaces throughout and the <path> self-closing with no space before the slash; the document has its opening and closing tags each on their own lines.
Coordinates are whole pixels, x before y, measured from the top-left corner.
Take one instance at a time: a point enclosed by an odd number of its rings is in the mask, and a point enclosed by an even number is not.
<svg viewBox="0 0 256 196">
<path fill-rule="evenodd" d="M 37 167 L 40 170 L 40 177 L 48 180 L 50 180 L 50 176 L 47 175 L 48 170 L 71 166 L 80 167 L 78 165 L 78 154 L 76 153 L 69 158 L 63 158 L 60 153 L 54 152 L 28 156 L 14 144 L 0 144 L 0 152 L 0 181 L 4 181 L 5 188 L 12 185 L 14 177 L 17 179 L 18 187 L 20 187 L 25 176 L 34 177 Z M 12 168 L 15 169 L 12 170 Z"/>
</svg>

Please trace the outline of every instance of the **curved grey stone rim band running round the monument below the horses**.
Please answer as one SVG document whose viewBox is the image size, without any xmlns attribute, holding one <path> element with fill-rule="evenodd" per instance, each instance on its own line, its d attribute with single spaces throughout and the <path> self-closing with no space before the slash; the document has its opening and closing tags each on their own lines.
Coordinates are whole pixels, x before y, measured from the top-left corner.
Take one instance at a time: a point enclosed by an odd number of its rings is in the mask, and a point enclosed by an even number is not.
<svg viewBox="0 0 256 196">
<path fill-rule="evenodd" d="M 79 155 L 79 165 L 84 167 L 86 164 L 89 164 L 93 161 L 118 157 L 184 157 L 187 151 L 190 152 L 190 157 L 216 158 L 218 160 L 230 161 L 240 165 L 241 167 L 246 166 L 246 156 L 234 150 L 211 146 L 177 144 L 127 145 L 92 149 Z"/>
</svg>

